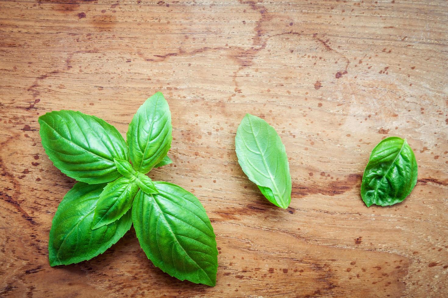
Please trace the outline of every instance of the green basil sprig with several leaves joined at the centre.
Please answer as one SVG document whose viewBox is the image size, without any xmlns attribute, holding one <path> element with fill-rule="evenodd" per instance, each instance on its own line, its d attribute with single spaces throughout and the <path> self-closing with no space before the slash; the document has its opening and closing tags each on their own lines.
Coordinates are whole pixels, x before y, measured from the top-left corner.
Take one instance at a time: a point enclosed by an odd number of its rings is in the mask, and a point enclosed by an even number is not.
<svg viewBox="0 0 448 298">
<path fill-rule="evenodd" d="M 171 113 L 161 92 L 138 109 L 127 143 L 115 127 L 81 112 L 53 111 L 39 117 L 39 124 L 50 160 L 81 181 L 65 195 L 53 218 L 51 266 L 98 256 L 134 223 L 138 241 L 155 266 L 180 280 L 215 285 L 218 250 L 204 207 L 180 186 L 153 182 L 145 175 L 172 163 L 167 156 Z"/>
</svg>

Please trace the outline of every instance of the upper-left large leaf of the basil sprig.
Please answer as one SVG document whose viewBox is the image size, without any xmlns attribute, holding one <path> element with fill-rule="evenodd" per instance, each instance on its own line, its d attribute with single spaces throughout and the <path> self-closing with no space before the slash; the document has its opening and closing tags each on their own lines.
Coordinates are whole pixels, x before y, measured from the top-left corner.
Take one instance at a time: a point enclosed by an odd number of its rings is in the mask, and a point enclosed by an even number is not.
<svg viewBox="0 0 448 298">
<path fill-rule="evenodd" d="M 39 134 L 50 160 L 65 175 L 89 184 L 120 177 L 114 158 L 129 160 L 115 127 L 95 116 L 53 111 L 39 117 Z"/>
</svg>

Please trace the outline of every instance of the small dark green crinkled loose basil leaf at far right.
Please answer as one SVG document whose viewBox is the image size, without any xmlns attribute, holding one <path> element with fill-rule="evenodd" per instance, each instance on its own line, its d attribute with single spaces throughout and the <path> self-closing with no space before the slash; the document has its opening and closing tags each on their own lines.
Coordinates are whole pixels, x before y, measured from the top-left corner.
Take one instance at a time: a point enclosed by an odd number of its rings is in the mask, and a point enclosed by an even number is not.
<svg viewBox="0 0 448 298">
<path fill-rule="evenodd" d="M 403 201 L 417 183 L 417 160 L 406 139 L 390 137 L 373 148 L 362 176 L 361 196 L 367 207 Z"/>
</svg>

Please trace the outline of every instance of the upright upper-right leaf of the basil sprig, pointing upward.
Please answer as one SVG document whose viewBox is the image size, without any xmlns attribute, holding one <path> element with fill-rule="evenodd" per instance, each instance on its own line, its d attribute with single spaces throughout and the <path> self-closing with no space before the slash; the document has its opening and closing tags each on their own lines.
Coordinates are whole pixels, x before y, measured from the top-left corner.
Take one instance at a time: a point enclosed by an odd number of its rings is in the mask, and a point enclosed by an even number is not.
<svg viewBox="0 0 448 298">
<path fill-rule="evenodd" d="M 162 161 L 171 147 L 171 113 L 161 92 L 138 108 L 126 134 L 132 164 L 146 174 Z"/>
</svg>

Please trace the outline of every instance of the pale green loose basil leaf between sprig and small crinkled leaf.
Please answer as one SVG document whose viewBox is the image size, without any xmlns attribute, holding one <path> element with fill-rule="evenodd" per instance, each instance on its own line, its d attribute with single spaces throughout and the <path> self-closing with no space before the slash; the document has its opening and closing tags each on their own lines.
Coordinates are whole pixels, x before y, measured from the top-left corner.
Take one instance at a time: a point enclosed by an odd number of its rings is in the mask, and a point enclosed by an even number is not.
<svg viewBox="0 0 448 298">
<path fill-rule="evenodd" d="M 263 119 L 246 114 L 237 129 L 235 150 L 249 180 L 272 204 L 288 208 L 291 176 L 286 150 L 276 130 Z"/>
</svg>

